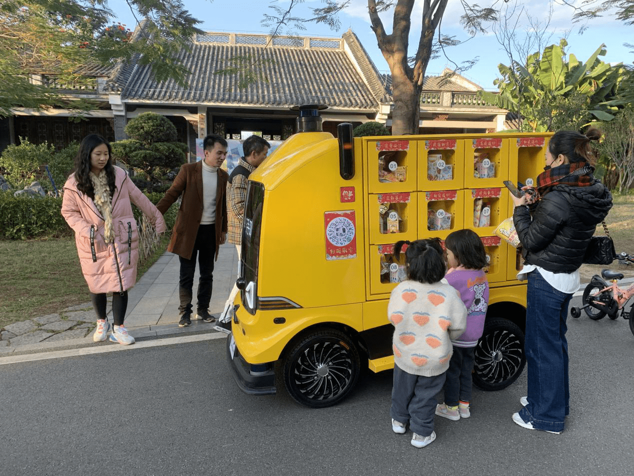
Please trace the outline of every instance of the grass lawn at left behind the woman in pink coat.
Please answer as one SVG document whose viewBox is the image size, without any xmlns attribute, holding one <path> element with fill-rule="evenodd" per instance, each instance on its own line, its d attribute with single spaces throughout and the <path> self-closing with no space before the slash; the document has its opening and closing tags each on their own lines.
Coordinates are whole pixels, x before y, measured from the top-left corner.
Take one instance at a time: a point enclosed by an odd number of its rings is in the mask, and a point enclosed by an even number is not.
<svg viewBox="0 0 634 476">
<path fill-rule="evenodd" d="M 169 243 L 163 236 L 153 256 L 139 265 L 140 278 Z M 0 329 L 11 322 L 52 314 L 90 301 L 72 237 L 0 241 Z"/>
</svg>

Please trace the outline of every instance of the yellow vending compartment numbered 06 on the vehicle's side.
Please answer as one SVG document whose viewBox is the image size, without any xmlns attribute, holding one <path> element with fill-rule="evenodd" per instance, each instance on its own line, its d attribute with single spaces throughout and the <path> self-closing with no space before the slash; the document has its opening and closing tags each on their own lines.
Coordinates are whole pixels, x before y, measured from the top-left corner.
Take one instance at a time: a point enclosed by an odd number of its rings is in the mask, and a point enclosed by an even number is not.
<svg viewBox="0 0 634 476">
<path fill-rule="evenodd" d="M 418 237 L 445 239 L 453 230 L 462 228 L 463 206 L 462 190 L 418 192 Z"/>
</svg>

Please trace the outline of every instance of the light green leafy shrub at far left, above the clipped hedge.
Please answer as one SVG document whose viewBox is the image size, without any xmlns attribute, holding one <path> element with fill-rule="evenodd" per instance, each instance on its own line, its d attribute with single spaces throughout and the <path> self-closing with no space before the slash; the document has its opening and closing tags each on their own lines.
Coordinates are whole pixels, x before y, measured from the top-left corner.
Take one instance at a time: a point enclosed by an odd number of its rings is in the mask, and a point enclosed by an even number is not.
<svg viewBox="0 0 634 476">
<path fill-rule="evenodd" d="M 0 167 L 4 167 L 7 174 L 5 180 L 11 187 L 22 189 L 31 182 L 38 180 L 37 173 L 41 164 L 48 163 L 51 155 L 55 152 L 52 145 L 44 142 L 36 145 L 21 137 L 20 145 L 11 144 L 3 150 L 0 155 Z M 42 187 L 46 188 L 46 183 L 42 180 Z M 50 181 L 46 180 L 49 183 Z"/>
</svg>

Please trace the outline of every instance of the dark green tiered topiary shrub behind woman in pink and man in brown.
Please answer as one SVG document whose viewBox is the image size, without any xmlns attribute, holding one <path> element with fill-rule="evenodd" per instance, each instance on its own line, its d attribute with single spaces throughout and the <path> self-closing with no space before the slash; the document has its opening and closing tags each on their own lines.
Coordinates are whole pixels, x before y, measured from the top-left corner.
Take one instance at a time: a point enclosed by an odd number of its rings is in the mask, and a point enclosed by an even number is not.
<svg viewBox="0 0 634 476">
<path fill-rule="evenodd" d="M 188 147 L 175 142 L 176 128 L 169 119 L 154 112 L 144 112 L 126 125 L 127 140 L 112 144 L 112 155 L 127 168 L 141 172 L 150 181 L 146 188 L 152 191 L 154 184 L 178 166 L 187 157 Z"/>
</svg>

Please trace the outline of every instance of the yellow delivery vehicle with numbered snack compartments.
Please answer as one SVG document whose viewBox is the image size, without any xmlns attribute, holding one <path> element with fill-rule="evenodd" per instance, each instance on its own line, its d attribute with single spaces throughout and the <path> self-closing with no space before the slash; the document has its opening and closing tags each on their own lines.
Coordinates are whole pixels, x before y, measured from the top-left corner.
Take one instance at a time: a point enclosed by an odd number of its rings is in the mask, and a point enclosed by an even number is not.
<svg viewBox="0 0 634 476">
<path fill-rule="evenodd" d="M 318 107 L 249 176 L 242 260 L 227 357 L 238 386 L 283 385 L 297 402 L 346 398 L 364 367 L 394 366 L 392 289 L 404 279 L 394 243 L 472 228 L 488 255 L 489 307 L 474 383 L 498 390 L 524 368 L 521 261 L 495 235 L 512 214 L 504 180 L 531 185 L 549 134 L 339 138 Z M 402 255 L 401 255 L 402 256 Z M 282 383 L 283 382 L 283 383 Z"/>
</svg>

